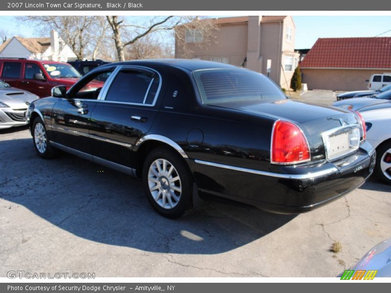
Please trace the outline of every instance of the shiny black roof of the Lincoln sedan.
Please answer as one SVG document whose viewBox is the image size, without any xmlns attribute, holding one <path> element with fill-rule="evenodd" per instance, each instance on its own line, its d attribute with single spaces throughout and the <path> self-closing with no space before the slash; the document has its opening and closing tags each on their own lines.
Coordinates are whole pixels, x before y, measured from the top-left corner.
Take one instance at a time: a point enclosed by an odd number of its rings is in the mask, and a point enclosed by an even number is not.
<svg viewBox="0 0 391 293">
<path fill-rule="evenodd" d="M 167 66 L 179 67 L 189 71 L 195 71 L 200 69 L 212 69 L 212 68 L 227 68 L 234 69 L 238 68 L 233 65 L 204 61 L 204 60 L 195 60 L 195 59 L 147 59 L 147 60 L 133 60 L 125 62 L 110 63 L 108 65 L 140 65 L 140 66 L 153 66 L 165 64 Z"/>
</svg>

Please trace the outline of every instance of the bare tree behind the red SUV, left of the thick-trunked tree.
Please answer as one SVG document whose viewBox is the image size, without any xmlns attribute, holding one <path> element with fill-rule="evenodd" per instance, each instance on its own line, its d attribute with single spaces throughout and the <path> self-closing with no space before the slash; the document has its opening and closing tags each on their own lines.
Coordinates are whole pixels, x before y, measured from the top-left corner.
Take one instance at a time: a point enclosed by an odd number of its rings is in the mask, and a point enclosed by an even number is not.
<svg viewBox="0 0 391 293">
<path fill-rule="evenodd" d="M 21 16 L 19 19 L 35 24 L 41 33 L 57 30 L 78 59 L 99 50 L 108 28 L 102 25 L 105 19 L 101 16 Z"/>
</svg>

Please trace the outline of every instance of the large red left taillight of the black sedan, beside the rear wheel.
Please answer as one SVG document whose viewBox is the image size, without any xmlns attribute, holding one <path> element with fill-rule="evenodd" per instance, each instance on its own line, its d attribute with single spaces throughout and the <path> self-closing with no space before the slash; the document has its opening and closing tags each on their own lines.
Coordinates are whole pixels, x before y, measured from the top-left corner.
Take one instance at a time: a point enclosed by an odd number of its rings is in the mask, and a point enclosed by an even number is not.
<svg viewBox="0 0 391 293">
<path fill-rule="evenodd" d="M 295 164 L 311 159 L 303 131 L 293 123 L 278 120 L 273 127 L 271 163 Z"/>
</svg>

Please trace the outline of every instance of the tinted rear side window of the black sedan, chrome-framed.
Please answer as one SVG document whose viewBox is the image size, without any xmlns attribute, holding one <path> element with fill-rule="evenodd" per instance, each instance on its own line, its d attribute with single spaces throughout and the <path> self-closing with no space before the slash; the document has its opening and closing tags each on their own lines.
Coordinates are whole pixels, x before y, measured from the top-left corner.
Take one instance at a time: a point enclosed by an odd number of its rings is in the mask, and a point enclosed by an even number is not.
<svg viewBox="0 0 391 293">
<path fill-rule="evenodd" d="M 135 70 L 121 70 L 115 76 L 105 100 L 137 104 L 152 104 L 152 91 L 157 91 L 157 76 Z M 152 86 L 154 85 L 154 86 Z M 150 94 L 151 93 L 151 97 Z M 148 100 L 148 103 L 147 103 Z"/>
</svg>

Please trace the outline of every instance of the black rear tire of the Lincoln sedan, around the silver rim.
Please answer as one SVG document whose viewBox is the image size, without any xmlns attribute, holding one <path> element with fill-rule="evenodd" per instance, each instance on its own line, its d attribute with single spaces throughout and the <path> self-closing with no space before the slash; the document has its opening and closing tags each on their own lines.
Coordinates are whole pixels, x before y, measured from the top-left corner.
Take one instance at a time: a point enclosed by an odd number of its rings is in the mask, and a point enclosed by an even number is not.
<svg viewBox="0 0 391 293">
<path fill-rule="evenodd" d="M 149 181 L 149 172 L 150 167 L 156 160 L 166 160 L 170 165 L 174 166 L 173 172 L 176 174 L 174 177 L 179 176 L 181 192 L 179 196 L 179 200 L 175 202 L 175 206 L 173 208 L 163 208 L 152 196 L 152 191 L 150 190 L 150 184 L 153 184 Z M 168 165 L 168 166 L 170 166 Z M 156 165 L 154 165 L 156 166 Z M 169 168 L 169 167 L 167 167 Z M 176 219 L 182 216 L 185 213 L 189 213 L 193 209 L 193 176 L 186 166 L 186 162 L 172 149 L 169 147 L 158 147 L 153 149 L 147 156 L 143 165 L 143 185 L 144 191 L 148 198 L 148 201 L 152 205 L 153 209 L 155 209 L 159 214 L 170 218 Z M 176 176 L 177 175 L 177 176 Z M 160 177 L 161 178 L 161 177 Z M 164 180 L 164 179 L 163 179 Z M 156 183 L 157 185 L 157 183 Z M 167 185 L 166 185 L 167 187 Z M 168 187 L 169 188 L 169 187 Z M 160 190 L 160 188 L 158 189 Z M 171 192 L 174 190 L 170 190 Z M 158 191 L 160 192 L 160 191 Z M 156 193 L 155 193 L 156 194 Z M 167 194 L 167 193 L 166 193 Z M 170 197 L 171 198 L 171 197 Z M 168 200 L 166 200 L 168 201 Z M 162 202 L 164 203 L 163 199 Z"/>
</svg>

